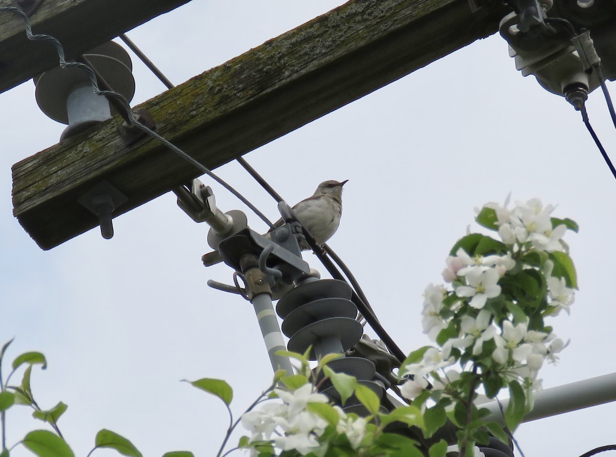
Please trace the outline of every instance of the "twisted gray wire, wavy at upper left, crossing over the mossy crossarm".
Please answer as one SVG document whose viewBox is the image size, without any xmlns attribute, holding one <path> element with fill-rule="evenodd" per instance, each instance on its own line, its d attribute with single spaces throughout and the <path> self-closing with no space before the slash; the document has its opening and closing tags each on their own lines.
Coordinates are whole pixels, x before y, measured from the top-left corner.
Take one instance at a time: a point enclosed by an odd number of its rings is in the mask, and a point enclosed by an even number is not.
<svg viewBox="0 0 616 457">
<path fill-rule="evenodd" d="M 58 58 L 59 58 L 59 61 L 60 61 L 60 67 L 62 67 L 62 68 L 79 68 L 79 70 L 84 71 L 86 73 L 86 75 L 88 76 L 88 78 L 90 79 L 91 83 L 92 83 L 92 88 L 93 88 L 95 94 L 102 95 L 103 97 L 106 97 L 107 99 L 114 99 L 114 100 L 116 100 L 116 102 L 120 103 L 121 108 L 123 108 L 122 109 L 123 114 L 126 116 L 125 119 L 128 119 L 128 124 L 130 126 L 135 127 L 136 129 L 139 129 L 140 131 L 142 131 L 145 134 L 149 135 L 153 139 L 158 140 L 158 142 L 160 142 L 161 144 L 163 144 L 166 147 L 168 147 L 170 150 L 175 152 L 177 155 L 179 155 L 181 158 L 183 158 L 188 163 L 192 164 L 195 168 L 197 168 L 203 174 L 206 174 L 209 177 L 211 177 L 212 179 L 214 179 L 216 182 L 218 182 L 220 185 L 222 185 L 222 187 L 224 187 L 230 193 L 232 193 L 234 196 L 236 196 L 238 198 L 238 200 L 240 200 L 242 203 L 244 203 L 246 206 L 248 206 L 248 208 L 250 208 L 251 211 L 253 211 L 257 216 L 259 216 L 265 222 L 265 224 L 269 225 L 269 227 L 274 227 L 272 222 L 269 219 L 267 219 L 267 217 L 261 211 L 259 211 L 259 209 L 257 209 L 256 206 L 254 206 L 254 204 L 252 204 L 250 201 L 248 201 L 248 199 L 245 198 L 245 196 L 241 195 L 241 193 L 238 192 L 237 190 L 235 190 L 235 188 L 233 188 L 230 184 L 225 182 L 225 180 L 223 180 L 221 177 L 217 176 L 213 171 L 211 171 L 205 165 L 201 164 L 199 161 L 197 161 L 192 156 L 190 156 L 187 153 L 185 153 L 179 147 L 177 147 L 176 145 L 174 145 L 171 142 L 169 142 L 169 140 L 164 139 L 161 135 L 157 134 L 156 132 L 154 132 L 149 127 L 147 127 L 144 124 L 140 123 L 139 120 L 135 117 L 134 113 L 132 113 L 131 105 L 129 104 L 128 100 L 126 100 L 121 94 L 118 94 L 118 92 L 115 92 L 115 91 L 101 90 L 100 87 L 99 87 L 99 83 L 97 81 L 95 72 L 92 70 L 91 67 L 89 67 L 89 65 L 87 65 L 86 63 L 83 63 L 83 62 L 67 62 L 67 60 L 65 59 L 64 48 L 63 48 L 62 44 L 57 39 L 55 39 L 53 36 L 47 35 L 47 34 L 34 34 L 34 33 L 32 33 L 32 26 L 31 26 L 31 23 L 30 23 L 30 19 L 25 14 L 25 12 L 23 12 L 22 9 L 20 9 L 18 7 L 14 7 L 14 6 L 3 6 L 3 7 L 0 7 L 0 11 L 11 12 L 13 14 L 16 14 L 18 17 L 20 17 L 22 22 L 25 24 L 26 36 L 31 41 L 46 41 L 46 42 L 51 43 L 52 46 L 54 46 L 56 51 L 57 51 Z M 117 103 L 115 103 L 115 104 L 117 104 Z"/>
</svg>

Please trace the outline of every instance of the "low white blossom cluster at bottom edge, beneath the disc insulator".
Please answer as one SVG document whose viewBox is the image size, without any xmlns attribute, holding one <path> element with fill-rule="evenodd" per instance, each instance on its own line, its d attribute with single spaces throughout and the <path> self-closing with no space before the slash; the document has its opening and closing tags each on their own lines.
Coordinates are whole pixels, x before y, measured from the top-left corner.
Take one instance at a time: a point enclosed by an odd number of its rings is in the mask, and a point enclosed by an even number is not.
<svg viewBox="0 0 616 457">
<path fill-rule="evenodd" d="M 325 432 L 328 422 L 307 407 L 310 403 L 329 403 L 328 397 L 315 392 L 310 383 L 294 391 L 274 389 L 274 392 L 282 403 L 265 403 L 259 410 L 241 416 L 241 424 L 251 432 L 248 442 L 249 447 L 253 445 L 251 456 L 259 455 L 259 443 L 264 442 L 273 443 L 281 451 L 324 455 L 327 443 L 320 443 L 318 438 Z M 357 449 L 366 433 L 366 419 L 346 415 L 339 406 L 333 409 L 339 416 L 336 431 L 346 435 L 352 448 Z"/>
</svg>

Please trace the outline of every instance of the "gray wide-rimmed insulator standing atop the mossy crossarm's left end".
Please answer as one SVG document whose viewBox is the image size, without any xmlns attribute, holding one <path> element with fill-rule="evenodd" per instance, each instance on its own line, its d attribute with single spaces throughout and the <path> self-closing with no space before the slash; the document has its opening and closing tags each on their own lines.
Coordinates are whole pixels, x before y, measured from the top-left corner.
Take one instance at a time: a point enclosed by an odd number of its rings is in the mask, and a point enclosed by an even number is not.
<svg viewBox="0 0 616 457">
<path fill-rule="evenodd" d="M 111 89 L 130 101 L 135 94 L 132 62 L 128 52 L 113 41 L 83 54 Z M 86 72 L 79 68 L 54 68 L 34 78 L 36 102 L 50 118 L 68 124 L 60 141 L 117 114 L 105 97 L 94 94 Z"/>
</svg>

